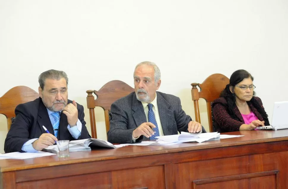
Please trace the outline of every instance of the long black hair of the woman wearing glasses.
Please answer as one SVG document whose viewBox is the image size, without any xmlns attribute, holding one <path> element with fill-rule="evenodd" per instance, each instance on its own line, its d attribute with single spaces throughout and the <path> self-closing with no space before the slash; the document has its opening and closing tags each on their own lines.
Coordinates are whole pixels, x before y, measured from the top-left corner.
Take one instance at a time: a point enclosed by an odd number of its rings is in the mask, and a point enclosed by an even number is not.
<svg viewBox="0 0 288 189">
<path fill-rule="evenodd" d="M 248 71 L 236 70 L 235 72 L 232 73 L 229 84 L 226 85 L 225 89 L 220 94 L 220 97 L 224 97 L 227 101 L 227 111 L 229 115 L 231 115 L 231 117 L 236 120 L 238 120 L 238 118 L 235 112 L 233 111 L 236 99 L 235 99 L 235 94 L 230 91 L 230 86 L 232 86 L 233 87 L 232 90 L 234 90 L 235 85 L 237 85 L 238 83 L 243 81 L 243 79 L 246 79 L 246 78 L 251 78 L 252 81 L 254 80 L 254 78 L 251 76 L 251 74 Z M 257 102 L 254 95 L 255 95 L 255 92 L 253 91 L 253 97 L 251 98 L 250 102 L 257 109 L 257 111 L 261 114 L 265 123 L 269 123 L 267 113 L 261 107 L 261 105 Z"/>
</svg>

